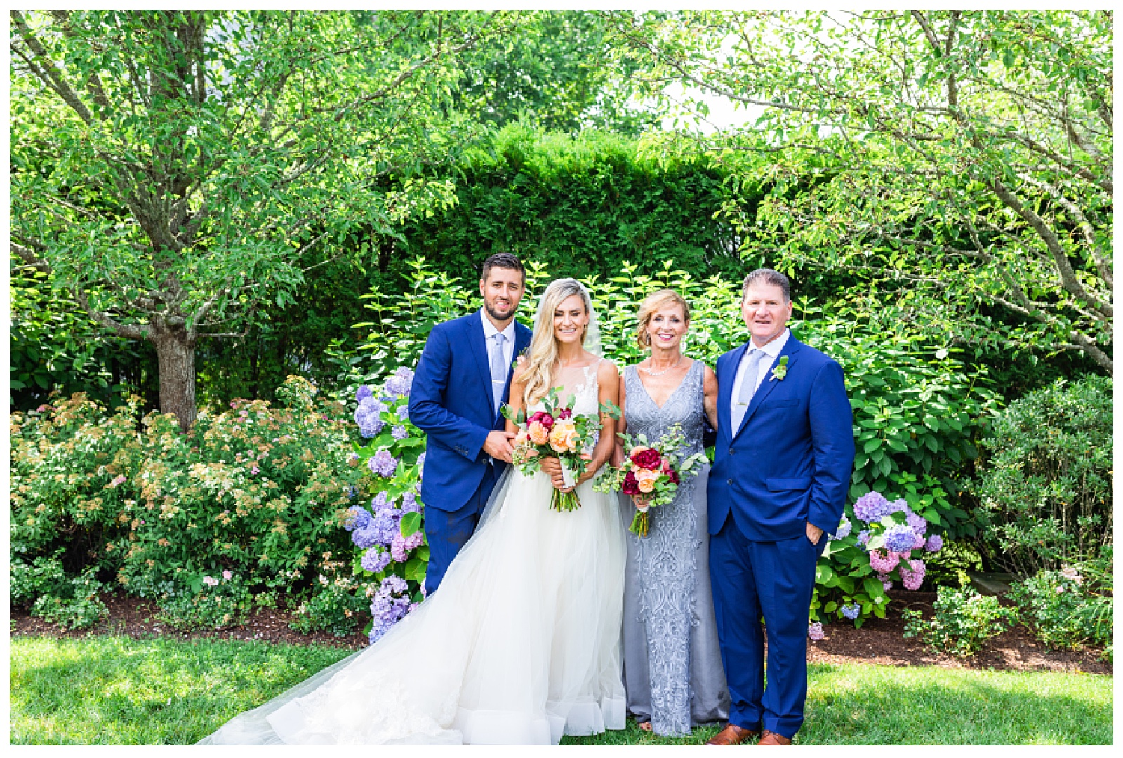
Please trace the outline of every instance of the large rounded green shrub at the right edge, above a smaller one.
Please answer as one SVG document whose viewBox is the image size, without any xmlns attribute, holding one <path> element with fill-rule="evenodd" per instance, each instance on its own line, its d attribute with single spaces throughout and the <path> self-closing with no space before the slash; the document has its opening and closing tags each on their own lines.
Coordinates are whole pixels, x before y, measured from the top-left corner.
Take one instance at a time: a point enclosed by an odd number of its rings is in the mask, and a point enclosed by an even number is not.
<svg viewBox="0 0 1123 758">
<path fill-rule="evenodd" d="M 1112 380 L 1059 380 L 1010 404 L 975 490 L 990 560 L 1029 577 L 1112 544 Z"/>
</svg>

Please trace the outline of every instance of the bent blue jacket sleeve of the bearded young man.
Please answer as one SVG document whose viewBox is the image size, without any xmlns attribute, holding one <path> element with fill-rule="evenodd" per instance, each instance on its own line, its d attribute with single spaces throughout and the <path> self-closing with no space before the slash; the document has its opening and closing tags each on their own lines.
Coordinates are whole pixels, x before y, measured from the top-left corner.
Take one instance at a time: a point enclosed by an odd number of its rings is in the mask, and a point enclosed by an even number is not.
<svg viewBox="0 0 1123 758">
<path fill-rule="evenodd" d="M 410 389 L 410 421 L 445 447 L 468 460 L 476 460 L 491 429 L 445 408 L 453 365 L 453 349 L 446 331 L 433 329 L 426 340 Z"/>
</svg>

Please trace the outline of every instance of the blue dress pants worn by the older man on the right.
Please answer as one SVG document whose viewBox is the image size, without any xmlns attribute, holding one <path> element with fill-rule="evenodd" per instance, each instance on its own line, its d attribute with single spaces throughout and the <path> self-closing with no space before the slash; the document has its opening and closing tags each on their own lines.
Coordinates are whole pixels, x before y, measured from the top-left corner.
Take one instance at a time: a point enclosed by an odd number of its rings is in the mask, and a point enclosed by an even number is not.
<svg viewBox="0 0 1123 758">
<path fill-rule="evenodd" d="M 710 538 L 710 577 L 731 724 L 751 730 L 763 725 L 787 738 L 803 724 L 807 612 L 815 563 L 825 546 L 827 535 L 818 545 L 805 535 L 774 542 L 749 540 L 737 528 L 732 512 Z"/>
</svg>

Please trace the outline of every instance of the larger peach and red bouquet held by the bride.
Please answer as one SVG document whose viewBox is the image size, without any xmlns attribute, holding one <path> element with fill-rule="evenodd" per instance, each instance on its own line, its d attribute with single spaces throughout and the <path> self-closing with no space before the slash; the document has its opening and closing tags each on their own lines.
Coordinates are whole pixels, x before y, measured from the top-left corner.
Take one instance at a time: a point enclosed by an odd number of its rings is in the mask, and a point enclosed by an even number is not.
<svg viewBox="0 0 1123 758">
<path fill-rule="evenodd" d="M 569 395 L 564 405 L 558 404 L 559 389 L 550 390 L 542 399 L 545 410 L 532 413 L 529 418 L 521 410 L 512 413 L 510 405 L 504 405 L 502 413 L 503 418 L 519 427 L 512 463 L 523 474 L 532 476 L 538 471 L 541 458 L 557 458 L 562 463 L 565 485 L 572 487 L 581 472 L 585 471 L 588 454 L 600 439 L 601 421 L 597 415 L 575 415 L 573 395 Z M 621 415 L 620 409 L 612 403 L 601 403 L 601 413 L 613 419 Z M 581 508 L 581 501 L 574 490 L 560 492 L 555 488 L 550 508 L 555 511 L 574 511 Z"/>
</svg>

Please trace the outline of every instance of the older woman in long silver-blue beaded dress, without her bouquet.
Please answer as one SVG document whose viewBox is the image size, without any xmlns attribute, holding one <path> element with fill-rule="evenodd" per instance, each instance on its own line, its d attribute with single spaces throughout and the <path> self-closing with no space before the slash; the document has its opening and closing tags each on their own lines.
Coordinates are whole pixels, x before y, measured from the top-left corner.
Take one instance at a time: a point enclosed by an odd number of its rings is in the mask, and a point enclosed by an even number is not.
<svg viewBox="0 0 1123 758">
<path fill-rule="evenodd" d="M 703 413 L 716 428 L 718 380 L 682 353 L 690 307 L 676 292 L 649 295 L 639 310 L 637 339 L 650 356 L 623 372 L 622 431 L 655 441 L 679 424 L 687 449 L 702 450 Z M 623 460 L 618 444 L 614 464 Z M 624 687 L 640 729 L 684 736 L 693 724 L 722 721 L 729 691 L 721 666 L 710 594 L 706 480 L 709 464 L 685 475 L 675 500 L 651 509 L 650 529 L 628 532 L 624 575 Z M 631 523 L 636 503 L 620 495 L 620 518 Z"/>
</svg>

